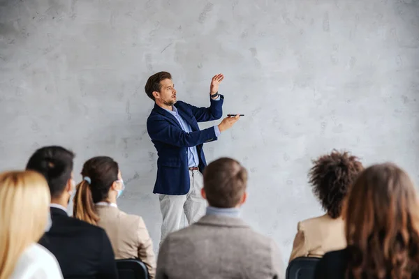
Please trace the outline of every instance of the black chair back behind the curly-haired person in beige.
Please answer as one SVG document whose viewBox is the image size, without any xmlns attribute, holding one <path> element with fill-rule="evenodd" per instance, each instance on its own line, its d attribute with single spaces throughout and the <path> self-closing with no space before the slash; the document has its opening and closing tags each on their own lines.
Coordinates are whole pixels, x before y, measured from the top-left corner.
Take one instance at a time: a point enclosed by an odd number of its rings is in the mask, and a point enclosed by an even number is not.
<svg viewBox="0 0 419 279">
<path fill-rule="evenodd" d="M 296 257 L 286 268 L 286 279 L 314 279 L 318 257 Z"/>
</svg>

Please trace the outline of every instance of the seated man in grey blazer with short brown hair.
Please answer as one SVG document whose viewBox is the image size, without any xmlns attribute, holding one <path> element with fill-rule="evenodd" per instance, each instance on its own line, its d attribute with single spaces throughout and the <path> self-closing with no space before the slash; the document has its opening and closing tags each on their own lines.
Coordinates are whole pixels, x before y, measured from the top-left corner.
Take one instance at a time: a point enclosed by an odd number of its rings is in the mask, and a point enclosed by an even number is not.
<svg viewBox="0 0 419 279">
<path fill-rule="evenodd" d="M 163 241 L 156 279 L 285 278 L 276 243 L 240 219 L 246 188 L 247 170 L 236 160 L 220 158 L 205 168 L 207 213 Z"/>
</svg>

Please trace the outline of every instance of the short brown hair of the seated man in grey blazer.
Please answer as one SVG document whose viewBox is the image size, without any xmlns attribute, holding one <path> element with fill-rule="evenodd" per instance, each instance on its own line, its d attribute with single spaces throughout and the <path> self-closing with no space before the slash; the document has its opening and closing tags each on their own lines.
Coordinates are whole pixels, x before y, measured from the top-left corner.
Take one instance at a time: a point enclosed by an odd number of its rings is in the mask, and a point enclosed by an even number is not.
<svg viewBox="0 0 419 279">
<path fill-rule="evenodd" d="M 237 160 L 219 158 L 205 167 L 204 190 L 210 206 L 235 207 L 246 188 L 247 170 Z"/>
</svg>

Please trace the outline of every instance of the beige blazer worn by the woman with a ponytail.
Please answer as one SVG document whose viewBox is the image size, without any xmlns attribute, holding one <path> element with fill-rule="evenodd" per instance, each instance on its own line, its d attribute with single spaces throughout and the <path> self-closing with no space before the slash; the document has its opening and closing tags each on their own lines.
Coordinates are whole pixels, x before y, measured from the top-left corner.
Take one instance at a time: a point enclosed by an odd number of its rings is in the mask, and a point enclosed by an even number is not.
<svg viewBox="0 0 419 279">
<path fill-rule="evenodd" d="M 115 259 L 140 259 L 147 266 L 150 278 L 156 272 L 152 239 L 140 216 L 129 215 L 114 206 L 96 205 L 98 226 L 105 229 Z"/>
</svg>

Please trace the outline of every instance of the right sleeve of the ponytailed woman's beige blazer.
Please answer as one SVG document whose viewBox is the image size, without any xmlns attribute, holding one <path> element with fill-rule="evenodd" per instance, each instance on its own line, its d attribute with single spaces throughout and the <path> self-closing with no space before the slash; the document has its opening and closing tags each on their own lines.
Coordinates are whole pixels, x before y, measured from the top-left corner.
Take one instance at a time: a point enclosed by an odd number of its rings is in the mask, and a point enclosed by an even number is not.
<svg viewBox="0 0 419 279">
<path fill-rule="evenodd" d="M 156 274 L 156 258 L 154 257 L 153 242 L 147 231 L 144 220 L 138 220 L 138 258 L 147 266 L 149 278 L 153 279 Z"/>
</svg>

